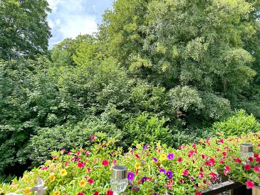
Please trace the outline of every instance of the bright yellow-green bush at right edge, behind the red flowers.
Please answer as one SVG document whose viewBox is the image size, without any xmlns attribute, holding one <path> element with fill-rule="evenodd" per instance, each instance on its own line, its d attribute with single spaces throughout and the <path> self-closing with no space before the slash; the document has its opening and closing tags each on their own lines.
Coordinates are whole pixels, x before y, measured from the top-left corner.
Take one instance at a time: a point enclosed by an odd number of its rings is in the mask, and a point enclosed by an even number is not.
<svg viewBox="0 0 260 195">
<path fill-rule="evenodd" d="M 260 131 L 260 123 L 251 115 L 247 115 L 244 110 L 236 111 L 234 116 L 223 122 L 213 124 L 215 133 L 223 132 L 225 135 L 241 135 L 243 133 Z"/>
</svg>

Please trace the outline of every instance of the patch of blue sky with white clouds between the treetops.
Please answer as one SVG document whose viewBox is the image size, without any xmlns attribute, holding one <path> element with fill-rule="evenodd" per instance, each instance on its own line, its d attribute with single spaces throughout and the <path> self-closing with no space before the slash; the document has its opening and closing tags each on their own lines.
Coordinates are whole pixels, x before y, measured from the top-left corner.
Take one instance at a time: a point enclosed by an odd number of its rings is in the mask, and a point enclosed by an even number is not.
<svg viewBox="0 0 260 195">
<path fill-rule="evenodd" d="M 52 28 L 49 48 L 66 38 L 92 34 L 97 31 L 105 9 L 112 8 L 114 0 L 47 0 L 52 13 L 48 23 Z"/>
</svg>

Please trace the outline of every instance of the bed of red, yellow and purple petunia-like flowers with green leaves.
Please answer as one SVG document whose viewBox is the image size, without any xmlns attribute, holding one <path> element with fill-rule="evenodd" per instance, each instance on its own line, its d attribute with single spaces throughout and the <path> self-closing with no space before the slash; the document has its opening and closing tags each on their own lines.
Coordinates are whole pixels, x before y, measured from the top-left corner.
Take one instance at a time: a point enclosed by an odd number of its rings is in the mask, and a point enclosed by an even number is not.
<svg viewBox="0 0 260 195">
<path fill-rule="evenodd" d="M 96 143 L 89 149 L 53 152 L 53 160 L 25 172 L 11 184 L 2 184 L 0 194 L 29 195 L 40 176 L 50 195 L 112 195 L 111 167 L 119 164 L 128 167 L 127 194 L 200 195 L 217 180 L 217 173 L 245 183 L 249 188 L 260 185 L 258 134 L 210 138 L 198 145 L 180 146 L 179 150 L 160 143 L 135 143 L 125 154 L 116 148 L 116 140 L 105 141 L 103 137 L 102 134 L 92 137 Z M 242 163 L 240 143 L 254 145 L 254 157 L 249 158 L 251 165 Z"/>
</svg>

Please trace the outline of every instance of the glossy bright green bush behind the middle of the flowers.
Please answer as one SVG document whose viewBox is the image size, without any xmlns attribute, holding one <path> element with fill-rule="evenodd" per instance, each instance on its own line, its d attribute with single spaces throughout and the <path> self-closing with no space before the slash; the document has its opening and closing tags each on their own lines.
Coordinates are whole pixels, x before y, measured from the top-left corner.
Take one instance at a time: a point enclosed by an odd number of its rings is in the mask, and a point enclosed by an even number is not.
<svg viewBox="0 0 260 195">
<path fill-rule="evenodd" d="M 148 114 L 130 118 L 122 128 L 124 144 L 131 146 L 135 141 L 143 143 L 161 141 L 171 145 L 171 131 L 168 127 L 164 127 L 165 122 L 164 118 L 149 117 Z"/>
</svg>

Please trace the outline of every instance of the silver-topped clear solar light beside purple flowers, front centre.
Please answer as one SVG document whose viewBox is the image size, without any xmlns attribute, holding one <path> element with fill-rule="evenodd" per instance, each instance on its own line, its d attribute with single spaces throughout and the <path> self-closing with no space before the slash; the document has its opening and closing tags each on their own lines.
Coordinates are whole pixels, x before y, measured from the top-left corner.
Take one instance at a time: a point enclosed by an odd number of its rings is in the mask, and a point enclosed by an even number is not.
<svg viewBox="0 0 260 195">
<path fill-rule="evenodd" d="M 128 185 L 127 179 L 127 167 L 122 165 L 116 165 L 112 167 L 112 176 L 110 179 L 110 186 L 113 190 L 113 195 L 123 193 Z"/>
</svg>

